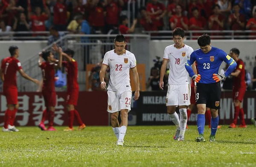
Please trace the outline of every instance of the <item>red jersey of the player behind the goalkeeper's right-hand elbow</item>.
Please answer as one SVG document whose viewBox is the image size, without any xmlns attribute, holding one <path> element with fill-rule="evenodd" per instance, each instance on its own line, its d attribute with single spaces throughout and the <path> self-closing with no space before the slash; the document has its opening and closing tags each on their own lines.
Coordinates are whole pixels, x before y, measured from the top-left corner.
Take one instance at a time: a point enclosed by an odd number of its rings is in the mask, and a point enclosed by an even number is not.
<svg viewBox="0 0 256 167">
<path fill-rule="evenodd" d="M 243 60 L 239 59 L 236 63 L 237 63 L 236 70 L 239 70 L 241 72 L 238 76 L 233 77 L 233 86 L 234 87 L 246 86 L 244 62 Z"/>
</svg>

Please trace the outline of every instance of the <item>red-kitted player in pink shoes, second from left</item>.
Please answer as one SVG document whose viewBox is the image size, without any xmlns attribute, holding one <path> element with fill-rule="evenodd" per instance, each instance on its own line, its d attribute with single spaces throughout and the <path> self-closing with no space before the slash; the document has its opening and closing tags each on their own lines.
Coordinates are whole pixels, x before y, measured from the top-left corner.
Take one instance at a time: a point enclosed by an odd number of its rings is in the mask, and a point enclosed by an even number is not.
<svg viewBox="0 0 256 167">
<path fill-rule="evenodd" d="M 39 67 L 42 69 L 43 75 L 43 88 L 42 93 L 44 96 L 44 103 L 46 109 L 43 111 L 43 116 L 41 123 L 38 127 L 41 130 L 49 130 L 54 131 L 55 128 L 53 127 L 54 122 L 54 112 L 55 112 L 55 105 L 56 105 L 56 92 L 55 92 L 55 68 L 58 60 L 56 60 L 50 51 L 43 51 L 39 54 L 40 58 L 38 61 Z M 45 62 L 42 62 L 42 58 L 44 58 Z M 49 120 L 49 127 L 46 129 L 44 126 L 44 121 L 47 119 Z"/>
</svg>

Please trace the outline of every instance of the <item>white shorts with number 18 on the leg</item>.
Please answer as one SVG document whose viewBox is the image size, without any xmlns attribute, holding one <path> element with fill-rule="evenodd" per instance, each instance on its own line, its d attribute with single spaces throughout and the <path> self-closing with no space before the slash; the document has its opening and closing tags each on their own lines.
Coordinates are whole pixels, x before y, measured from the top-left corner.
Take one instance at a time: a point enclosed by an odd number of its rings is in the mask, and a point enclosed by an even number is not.
<svg viewBox="0 0 256 167">
<path fill-rule="evenodd" d="M 190 84 L 172 85 L 168 84 L 166 95 L 166 106 L 190 105 Z"/>
</svg>

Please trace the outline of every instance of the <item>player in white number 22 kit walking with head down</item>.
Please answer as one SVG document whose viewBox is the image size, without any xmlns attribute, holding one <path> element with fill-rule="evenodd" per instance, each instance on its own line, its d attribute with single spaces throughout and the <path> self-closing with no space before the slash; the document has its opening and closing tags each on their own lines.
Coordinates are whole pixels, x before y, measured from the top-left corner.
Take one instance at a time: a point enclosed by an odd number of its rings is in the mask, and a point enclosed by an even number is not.
<svg viewBox="0 0 256 167">
<path fill-rule="evenodd" d="M 103 59 L 102 68 L 99 73 L 101 88 L 106 88 L 104 81 L 105 71 L 110 67 L 110 81 L 108 84 L 108 112 L 111 113 L 111 126 L 116 138 L 118 146 L 124 145 L 124 137 L 128 125 L 128 112 L 131 110 L 131 69 L 134 82 L 135 93 L 134 100 L 140 96 L 139 74 L 136 67 L 136 59 L 134 54 L 125 50 L 125 37 L 121 34 L 116 35 L 114 40 L 115 49 L 108 51 Z M 121 113 L 121 125 L 119 127 L 118 111 Z"/>
</svg>

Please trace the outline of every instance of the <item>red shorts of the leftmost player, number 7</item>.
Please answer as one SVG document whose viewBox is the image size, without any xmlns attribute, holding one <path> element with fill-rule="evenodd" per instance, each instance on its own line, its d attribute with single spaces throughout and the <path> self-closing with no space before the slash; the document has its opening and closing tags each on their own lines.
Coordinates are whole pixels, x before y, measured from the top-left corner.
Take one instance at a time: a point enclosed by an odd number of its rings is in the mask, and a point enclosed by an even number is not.
<svg viewBox="0 0 256 167">
<path fill-rule="evenodd" d="M 16 105 L 18 103 L 18 89 L 3 87 L 3 95 L 6 96 L 8 105 Z"/>
</svg>

